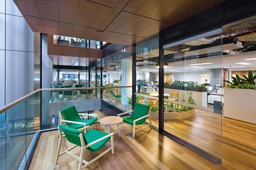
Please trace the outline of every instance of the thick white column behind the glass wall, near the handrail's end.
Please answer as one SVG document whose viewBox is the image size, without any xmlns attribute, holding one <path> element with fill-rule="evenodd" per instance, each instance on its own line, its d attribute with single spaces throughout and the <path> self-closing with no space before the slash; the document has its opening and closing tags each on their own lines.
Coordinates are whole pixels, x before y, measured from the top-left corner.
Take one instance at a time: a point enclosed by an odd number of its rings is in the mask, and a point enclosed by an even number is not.
<svg viewBox="0 0 256 170">
<path fill-rule="evenodd" d="M 132 59 L 121 59 L 121 86 L 132 86 L 133 62 Z M 128 97 L 132 95 L 132 88 L 121 88 L 121 104 L 128 105 Z"/>
</svg>

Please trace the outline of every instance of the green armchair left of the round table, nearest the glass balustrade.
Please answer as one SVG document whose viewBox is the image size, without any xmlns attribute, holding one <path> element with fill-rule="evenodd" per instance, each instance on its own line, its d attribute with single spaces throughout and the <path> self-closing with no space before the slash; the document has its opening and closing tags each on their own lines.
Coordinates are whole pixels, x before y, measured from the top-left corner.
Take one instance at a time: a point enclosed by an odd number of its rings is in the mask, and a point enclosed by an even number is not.
<svg viewBox="0 0 256 170">
<path fill-rule="evenodd" d="M 83 120 L 80 116 L 95 116 L 95 118 L 90 118 L 88 120 Z M 70 107 L 66 107 L 59 111 L 60 116 L 60 124 L 66 124 L 68 127 L 72 127 L 74 129 L 84 129 L 86 126 L 91 126 L 93 123 L 96 122 L 97 127 L 97 120 L 96 114 L 87 114 L 77 112 L 75 106 L 72 105 Z"/>
</svg>

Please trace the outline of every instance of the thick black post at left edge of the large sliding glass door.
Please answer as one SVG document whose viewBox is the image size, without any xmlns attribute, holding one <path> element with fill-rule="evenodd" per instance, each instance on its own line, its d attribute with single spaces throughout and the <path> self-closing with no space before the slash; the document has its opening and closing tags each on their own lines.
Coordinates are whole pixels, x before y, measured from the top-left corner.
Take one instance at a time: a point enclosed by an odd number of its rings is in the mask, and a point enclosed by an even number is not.
<svg viewBox="0 0 256 170">
<path fill-rule="evenodd" d="M 163 46 L 159 45 L 159 83 L 158 83 L 158 89 L 159 89 L 159 125 L 158 129 L 160 133 L 163 132 Z"/>
</svg>

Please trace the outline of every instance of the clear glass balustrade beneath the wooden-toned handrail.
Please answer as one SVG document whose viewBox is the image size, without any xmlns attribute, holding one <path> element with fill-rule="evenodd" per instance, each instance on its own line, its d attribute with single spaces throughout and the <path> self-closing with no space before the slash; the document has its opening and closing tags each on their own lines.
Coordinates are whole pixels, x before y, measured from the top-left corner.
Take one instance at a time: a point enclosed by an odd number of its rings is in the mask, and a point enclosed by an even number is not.
<svg viewBox="0 0 256 170">
<path fill-rule="evenodd" d="M 28 168 L 41 133 L 58 127 L 60 109 L 75 105 L 79 112 L 96 113 L 98 118 L 131 110 L 130 102 L 122 105 L 122 99 L 129 99 L 123 95 L 124 90 L 131 91 L 132 88 L 107 86 L 37 90 L 1 108 L 0 169 Z"/>
</svg>

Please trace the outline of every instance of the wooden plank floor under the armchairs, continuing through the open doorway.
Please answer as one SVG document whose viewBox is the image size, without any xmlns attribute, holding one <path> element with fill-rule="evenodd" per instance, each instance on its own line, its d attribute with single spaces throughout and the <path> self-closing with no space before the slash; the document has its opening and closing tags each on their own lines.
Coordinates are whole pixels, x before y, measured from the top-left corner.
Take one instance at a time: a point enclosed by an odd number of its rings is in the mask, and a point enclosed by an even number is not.
<svg viewBox="0 0 256 170">
<path fill-rule="evenodd" d="M 144 132 L 138 131 L 134 139 L 131 126 L 120 127 L 121 137 L 114 136 L 115 154 L 109 152 L 88 169 L 256 169 L 256 126 L 253 124 L 223 118 L 221 165 L 149 127 L 143 129 Z M 104 131 L 105 127 L 99 129 Z M 60 156 L 58 165 L 53 165 L 57 143 L 57 131 L 41 133 L 29 169 L 77 169 L 78 161 L 67 154 Z M 66 144 L 70 146 L 68 141 Z M 85 160 L 98 153 L 85 152 Z M 79 148 L 75 148 L 74 154 L 79 154 Z"/>
</svg>

